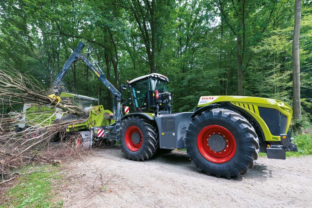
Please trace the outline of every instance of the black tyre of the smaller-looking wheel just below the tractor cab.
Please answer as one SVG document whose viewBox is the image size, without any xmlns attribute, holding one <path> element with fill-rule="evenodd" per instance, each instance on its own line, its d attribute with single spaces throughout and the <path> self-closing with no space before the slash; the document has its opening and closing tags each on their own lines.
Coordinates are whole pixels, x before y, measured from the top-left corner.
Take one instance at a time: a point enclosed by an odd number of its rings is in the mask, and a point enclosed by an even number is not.
<svg viewBox="0 0 312 208">
<path fill-rule="evenodd" d="M 129 129 L 130 131 L 133 128 L 137 129 L 133 134 L 139 135 L 139 141 L 138 143 L 133 142 L 133 144 L 137 145 L 135 147 L 136 149 L 130 150 L 129 148 L 134 147 L 129 147 L 130 134 L 127 133 L 127 130 Z M 119 138 L 122 152 L 129 160 L 148 160 L 155 154 L 159 145 L 159 138 L 155 122 L 136 116 L 131 116 L 122 122 Z M 127 144 L 126 138 L 128 138 Z"/>
</svg>

